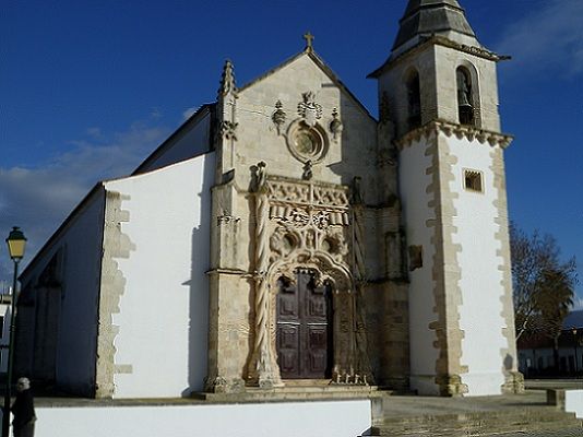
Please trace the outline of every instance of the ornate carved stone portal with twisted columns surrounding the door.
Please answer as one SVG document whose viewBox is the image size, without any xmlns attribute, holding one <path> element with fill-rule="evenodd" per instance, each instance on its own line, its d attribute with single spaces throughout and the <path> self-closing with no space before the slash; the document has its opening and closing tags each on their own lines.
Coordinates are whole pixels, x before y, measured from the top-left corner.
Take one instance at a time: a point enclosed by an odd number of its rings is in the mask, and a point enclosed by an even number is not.
<svg viewBox="0 0 583 437">
<path fill-rule="evenodd" d="M 372 375 L 357 316 L 358 290 L 364 286 L 364 247 L 358 208 L 349 202 L 350 190 L 269 177 L 263 162 L 258 164 L 252 185 L 255 320 L 249 379 L 263 388 L 283 385 L 275 333 L 278 281 L 293 284 L 301 269 L 313 272 L 316 286 L 325 283 L 332 288 L 332 380 L 367 385 Z"/>
</svg>

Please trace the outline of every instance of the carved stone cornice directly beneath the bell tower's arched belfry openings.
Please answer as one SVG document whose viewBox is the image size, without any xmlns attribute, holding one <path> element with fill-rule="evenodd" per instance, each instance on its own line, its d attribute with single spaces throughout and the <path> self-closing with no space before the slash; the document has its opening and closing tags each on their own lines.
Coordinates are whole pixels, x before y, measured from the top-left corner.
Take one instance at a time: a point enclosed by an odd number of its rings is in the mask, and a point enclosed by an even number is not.
<svg viewBox="0 0 583 437">
<path fill-rule="evenodd" d="M 414 141 L 419 141 L 421 138 L 429 138 L 433 133 L 443 132 L 445 137 L 455 135 L 457 139 L 465 138 L 468 141 L 477 140 L 480 144 L 488 143 L 492 147 L 498 145 L 501 149 L 507 149 L 512 140 L 512 135 L 499 132 L 492 132 L 484 129 L 474 128 L 472 126 L 456 125 L 449 121 L 436 120 L 427 125 L 405 133 L 394 143 L 398 150 L 408 147 Z"/>
</svg>

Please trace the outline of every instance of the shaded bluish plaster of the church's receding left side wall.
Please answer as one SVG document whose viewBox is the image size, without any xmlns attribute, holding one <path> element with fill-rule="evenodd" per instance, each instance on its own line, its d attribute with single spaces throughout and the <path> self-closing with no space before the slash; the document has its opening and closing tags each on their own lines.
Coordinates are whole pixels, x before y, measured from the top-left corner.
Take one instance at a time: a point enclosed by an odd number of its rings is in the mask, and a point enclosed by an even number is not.
<svg viewBox="0 0 583 437">
<path fill-rule="evenodd" d="M 47 264 L 61 251 L 61 303 L 57 332 L 56 383 L 61 390 L 88 395 L 95 380 L 95 339 L 102 265 L 104 190 L 95 188 L 31 261 L 21 276 L 22 290 L 34 290 Z M 34 353 L 35 308 L 20 317 L 29 328 L 21 332 L 22 359 Z M 29 350 L 28 350 L 29 347 Z M 17 363 L 24 371 L 32 363 Z M 32 369 L 28 369 L 31 371 Z"/>
</svg>

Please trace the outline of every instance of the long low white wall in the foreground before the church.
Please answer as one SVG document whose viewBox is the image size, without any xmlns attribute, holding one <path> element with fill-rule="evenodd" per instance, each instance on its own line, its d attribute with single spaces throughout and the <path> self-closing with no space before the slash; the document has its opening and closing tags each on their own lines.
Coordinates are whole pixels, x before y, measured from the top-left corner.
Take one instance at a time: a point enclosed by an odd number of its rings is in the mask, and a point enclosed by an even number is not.
<svg viewBox="0 0 583 437">
<path fill-rule="evenodd" d="M 231 405 L 85 404 L 37 408 L 36 415 L 36 437 L 357 437 L 371 426 L 369 400 Z"/>
</svg>

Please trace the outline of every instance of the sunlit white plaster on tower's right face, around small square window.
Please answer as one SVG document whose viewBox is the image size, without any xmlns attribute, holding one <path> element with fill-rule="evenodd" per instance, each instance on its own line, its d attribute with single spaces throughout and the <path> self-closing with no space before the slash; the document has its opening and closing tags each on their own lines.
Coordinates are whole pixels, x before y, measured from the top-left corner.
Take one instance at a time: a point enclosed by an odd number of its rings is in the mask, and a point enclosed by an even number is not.
<svg viewBox="0 0 583 437">
<path fill-rule="evenodd" d="M 508 349 L 508 341 L 502 334 L 505 321 L 500 267 L 504 260 L 498 255 L 501 243 L 497 239 L 498 192 L 491 172 L 491 146 L 455 137 L 445 141 L 450 153 L 457 158 L 451 168 L 454 179 L 449 189 L 457 194 L 453 196 L 456 212 L 453 243 L 461 246 L 456 259 L 462 292 L 460 329 L 464 332 L 462 366 L 468 369 L 462 375 L 462 381 L 467 385 L 469 395 L 500 394 L 504 383 L 501 351 Z M 484 192 L 464 188 L 465 169 L 483 174 Z"/>
</svg>

